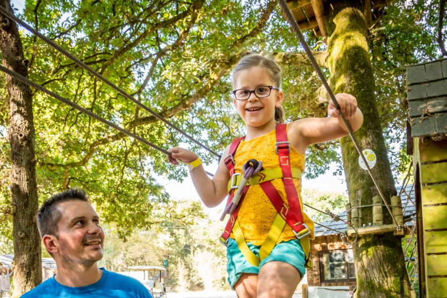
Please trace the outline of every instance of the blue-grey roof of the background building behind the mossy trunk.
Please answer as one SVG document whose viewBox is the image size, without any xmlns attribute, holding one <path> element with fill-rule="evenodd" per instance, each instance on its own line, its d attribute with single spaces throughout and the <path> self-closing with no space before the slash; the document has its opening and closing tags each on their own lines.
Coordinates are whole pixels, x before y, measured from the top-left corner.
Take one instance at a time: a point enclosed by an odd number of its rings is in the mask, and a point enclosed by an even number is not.
<svg viewBox="0 0 447 298">
<path fill-rule="evenodd" d="M 397 193 L 400 193 L 401 187 L 396 187 Z M 402 201 L 402 208 L 404 209 L 404 221 L 408 222 L 416 218 L 416 207 L 414 206 L 415 203 L 415 192 L 412 184 L 408 184 L 405 189 L 405 191 L 402 192 L 400 195 L 400 199 Z M 408 200 L 408 197 L 410 197 L 410 200 Z M 383 207 L 383 212 L 386 211 L 386 207 Z M 337 215 L 342 220 L 346 221 L 346 211 L 343 211 L 339 215 Z M 340 232 L 347 229 L 347 226 L 342 221 L 334 221 L 333 219 L 329 219 L 323 223 L 323 225 L 326 225 L 330 228 L 333 228 L 335 230 L 339 230 Z M 330 230 L 326 227 L 320 226 L 318 224 L 315 224 L 315 237 L 323 236 L 323 235 L 330 235 L 330 234 L 337 234 L 335 231 Z"/>
</svg>

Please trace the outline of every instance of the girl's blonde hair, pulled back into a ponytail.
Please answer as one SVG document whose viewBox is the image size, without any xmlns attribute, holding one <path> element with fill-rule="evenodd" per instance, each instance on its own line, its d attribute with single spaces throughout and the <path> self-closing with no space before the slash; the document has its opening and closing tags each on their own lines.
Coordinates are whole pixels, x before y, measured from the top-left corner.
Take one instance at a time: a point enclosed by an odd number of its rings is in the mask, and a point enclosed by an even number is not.
<svg viewBox="0 0 447 298">
<path fill-rule="evenodd" d="M 257 54 L 247 55 L 239 60 L 233 70 L 233 89 L 236 87 L 237 73 L 257 66 L 264 68 L 272 82 L 276 84 L 276 87 L 281 89 L 281 69 L 279 65 L 273 59 Z M 283 107 L 275 107 L 276 124 L 284 123 L 284 117 L 285 113 Z"/>
</svg>

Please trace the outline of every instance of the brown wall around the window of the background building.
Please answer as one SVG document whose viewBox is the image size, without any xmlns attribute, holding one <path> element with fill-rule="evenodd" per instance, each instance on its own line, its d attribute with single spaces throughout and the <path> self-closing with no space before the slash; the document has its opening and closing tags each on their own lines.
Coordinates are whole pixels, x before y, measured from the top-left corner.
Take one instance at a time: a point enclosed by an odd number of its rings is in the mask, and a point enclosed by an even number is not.
<svg viewBox="0 0 447 298">
<path fill-rule="evenodd" d="M 310 240 L 310 258 L 313 262 L 313 269 L 307 269 L 307 284 L 311 287 L 356 286 L 355 282 L 321 283 L 320 281 L 320 260 L 318 252 L 322 250 L 338 250 L 348 248 L 348 245 L 340 239 L 338 234 L 317 236 L 315 239 Z"/>
</svg>

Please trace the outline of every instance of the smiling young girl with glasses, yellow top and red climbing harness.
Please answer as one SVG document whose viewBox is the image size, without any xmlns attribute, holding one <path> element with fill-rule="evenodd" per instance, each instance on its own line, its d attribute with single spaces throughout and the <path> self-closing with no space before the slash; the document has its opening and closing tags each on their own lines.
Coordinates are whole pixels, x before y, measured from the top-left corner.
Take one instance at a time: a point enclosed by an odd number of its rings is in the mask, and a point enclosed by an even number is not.
<svg viewBox="0 0 447 298">
<path fill-rule="evenodd" d="M 234 107 L 247 132 L 245 138 L 224 150 L 224 157 L 231 155 L 221 159 L 213 179 L 192 151 L 172 148 L 168 160 L 188 164 L 194 186 L 207 207 L 218 206 L 228 192 L 234 195 L 248 160 L 262 161 L 262 171 L 243 188 L 245 195 L 221 237 L 227 246 L 228 282 L 239 298 L 291 298 L 305 273 L 308 241 L 313 238 L 313 223 L 301 212 L 298 199 L 305 151 L 310 144 L 348 133 L 332 101 L 328 106 L 331 117 L 282 124 L 281 70 L 269 58 L 243 57 L 233 71 L 233 89 Z M 358 130 L 363 115 L 356 98 L 350 94 L 335 97 L 352 129 Z M 250 165 L 255 166 L 247 163 Z"/>
</svg>

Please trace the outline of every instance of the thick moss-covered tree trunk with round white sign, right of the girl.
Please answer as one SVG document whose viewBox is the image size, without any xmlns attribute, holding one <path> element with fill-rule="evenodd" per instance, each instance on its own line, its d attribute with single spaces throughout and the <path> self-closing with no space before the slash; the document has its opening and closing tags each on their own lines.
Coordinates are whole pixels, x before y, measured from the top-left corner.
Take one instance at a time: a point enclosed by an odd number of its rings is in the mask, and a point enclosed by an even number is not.
<svg viewBox="0 0 447 298">
<path fill-rule="evenodd" d="M 356 132 L 360 147 L 377 155 L 372 172 L 390 203 L 396 189 L 374 99 L 374 77 L 368 48 L 368 28 L 363 16 L 364 1 L 332 1 L 326 20 L 328 29 L 328 66 L 334 93 L 353 94 L 365 121 Z M 367 171 L 360 168 L 359 154 L 349 137 L 340 140 L 350 201 L 371 205 L 378 195 Z M 385 224 L 392 220 L 384 207 Z M 373 223 L 371 207 L 361 209 L 363 224 Z M 401 239 L 393 233 L 362 236 L 354 245 L 358 298 L 410 298 L 410 283 L 404 264 Z"/>
</svg>

